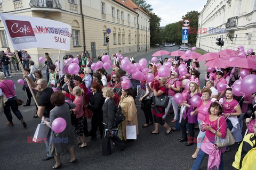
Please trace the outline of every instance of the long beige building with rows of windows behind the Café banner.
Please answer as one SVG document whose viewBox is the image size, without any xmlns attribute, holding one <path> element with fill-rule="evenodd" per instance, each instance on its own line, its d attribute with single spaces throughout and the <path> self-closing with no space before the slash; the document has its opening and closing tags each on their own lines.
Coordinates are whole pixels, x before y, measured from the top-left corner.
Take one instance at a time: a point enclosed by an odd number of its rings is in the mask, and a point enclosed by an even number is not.
<svg viewBox="0 0 256 170">
<path fill-rule="evenodd" d="M 102 53 L 137 52 L 150 47 L 150 16 L 131 0 L 0 0 L 0 12 L 56 20 L 70 24 L 73 37 L 70 51 L 61 56 L 76 56 L 88 50 L 92 58 Z M 106 29 L 110 28 L 108 35 Z M 0 21 L 1 50 L 13 48 Z M 106 42 L 109 37 L 109 48 Z M 47 43 L 47 39 L 45 40 Z M 58 49 L 28 48 L 32 60 L 49 53 L 52 60 L 58 58 Z M 95 60 L 95 59 L 94 59 Z"/>
</svg>

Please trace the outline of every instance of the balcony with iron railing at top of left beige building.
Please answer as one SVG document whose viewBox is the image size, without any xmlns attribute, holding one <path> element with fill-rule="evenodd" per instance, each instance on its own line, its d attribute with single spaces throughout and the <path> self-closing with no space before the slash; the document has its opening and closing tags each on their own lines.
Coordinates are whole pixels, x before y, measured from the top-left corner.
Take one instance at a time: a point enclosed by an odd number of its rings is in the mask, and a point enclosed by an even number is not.
<svg viewBox="0 0 256 170">
<path fill-rule="evenodd" d="M 30 0 L 29 5 L 32 11 L 45 11 L 45 8 L 47 8 L 47 11 L 54 12 L 55 10 L 59 11 L 61 9 L 58 0 Z M 49 8 L 52 10 L 48 10 Z"/>
</svg>

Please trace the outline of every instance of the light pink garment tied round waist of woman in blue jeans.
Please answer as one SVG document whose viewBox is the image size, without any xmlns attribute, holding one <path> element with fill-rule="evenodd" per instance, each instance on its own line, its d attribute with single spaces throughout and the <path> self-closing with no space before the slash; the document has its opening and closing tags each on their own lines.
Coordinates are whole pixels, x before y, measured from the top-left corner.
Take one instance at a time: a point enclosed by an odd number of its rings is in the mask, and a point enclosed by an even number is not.
<svg viewBox="0 0 256 170">
<path fill-rule="evenodd" d="M 210 142 L 207 137 L 205 137 L 200 149 L 205 152 L 205 154 L 209 155 L 207 170 L 219 169 L 221 152 L 225 152 L 226 147 L 216 150 L 213 143 Z"/>
</svg>

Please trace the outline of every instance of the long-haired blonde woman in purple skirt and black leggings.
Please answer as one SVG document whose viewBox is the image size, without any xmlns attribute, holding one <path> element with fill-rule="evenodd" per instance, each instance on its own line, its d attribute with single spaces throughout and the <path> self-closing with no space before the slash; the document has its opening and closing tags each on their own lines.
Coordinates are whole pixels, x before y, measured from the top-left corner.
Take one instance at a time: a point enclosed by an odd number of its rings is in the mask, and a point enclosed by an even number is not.
<svg viewBox="0 0 256 170">
<path fill-rule="evenodd" d="M 178 141 L 182 142 L 182 141 L 187 141 L 185 143 L 185 146 L 191 146 L 193 145 L 193 139 L 195 137 L 195 123 L 197 122 L 197 114 L 191 114 L 191 112 L 193 113 L 193 111 L 195 111 L 195 108 L 191 105 L 191 98 L 193 96 L 199 96 L 199 92 L 200 92 L 200 88 L 198 86 L 198 84 L 194 81 L 191 81 L 189 83 L 189 90 L 188 90 L 188 94 L 187 94 L 187 99 L 183 100 L 183 102 L 181 103 L 181 105 L 185 105 L 187 107 L 185 113 L 183 114 L 180 126 L 181 126 L 181 130 L 182 130 L 182 137 L 180 139 L 178 139 Z M 188 123 L 188 128 L 189 128 L 189 139 L 187 138 L 187 125 Z"/>
</svg>

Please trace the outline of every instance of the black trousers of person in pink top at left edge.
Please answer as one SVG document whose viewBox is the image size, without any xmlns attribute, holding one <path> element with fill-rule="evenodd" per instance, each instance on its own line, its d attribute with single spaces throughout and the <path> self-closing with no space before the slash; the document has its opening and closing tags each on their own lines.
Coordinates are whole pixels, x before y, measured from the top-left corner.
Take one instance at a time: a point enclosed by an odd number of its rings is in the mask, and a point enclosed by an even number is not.
<svg viewBox="0 0 256 170">
<path fill-rule="evenodd" d="M 12 114 L 11 114 L 11 109 L 12 112 L 14 113 L 14 115 L 20 120 L 21 118 L 23 118 L 23 116 L 21 115 L 18 105 L 16 103 L 16 99 L 15 97 L 9 98 L 6 102 L 5 102 L 5 106 L 4 106 L 4 114 L 7 118 L 7 120 L 9 122 L 12 122 Z"/>
</svg>

